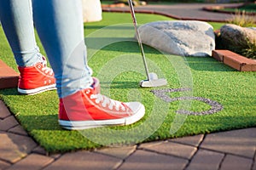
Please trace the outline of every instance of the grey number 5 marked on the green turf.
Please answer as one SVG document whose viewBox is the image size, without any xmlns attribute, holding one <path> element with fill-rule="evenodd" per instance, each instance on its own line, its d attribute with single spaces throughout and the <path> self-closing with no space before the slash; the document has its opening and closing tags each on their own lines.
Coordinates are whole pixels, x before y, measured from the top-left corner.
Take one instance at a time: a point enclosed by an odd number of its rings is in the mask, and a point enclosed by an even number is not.
<svg viewBox="0 0 256 170">
<path fill-rule="evenodd" d="M 201 102 L 206 103 L 207 105 L 211 105 L 211 109 L 207 111 L 186 111 L 186 110 L 179 110 L 176 111 L 179 114 L 186 114 L 186 115 L 207 115 L 207 114 L 213 114 L 217 113 L 218 111 L 223 110 L 223 105 L 219 104 L 217 101 L 213 101 L 212 99 L 206 99 L 202 97 L 195 97 L 195 96 L 183 96 L 183 97 L 177 97 L 177 98 L 171 98 L 168 93 L 173 92 L 184 92 L 184 91 L 191 91 L 190 88 L 167 88 L 167 89 L 160 89 L 160 90 L 151 90 L 151 92 L 159 97 L 160 99 L 163 99 L 164 101 L 168 103 L 172 103 L 173 101 L 177 100 L 199 100 Z"/>
</svg>

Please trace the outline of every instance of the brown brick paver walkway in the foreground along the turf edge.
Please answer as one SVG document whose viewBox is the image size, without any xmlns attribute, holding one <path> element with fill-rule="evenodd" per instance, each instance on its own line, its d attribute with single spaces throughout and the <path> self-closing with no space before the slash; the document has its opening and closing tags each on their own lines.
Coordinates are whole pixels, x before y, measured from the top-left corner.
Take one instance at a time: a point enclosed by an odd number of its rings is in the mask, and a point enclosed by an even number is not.
<svg viewBox="0 0 256 170">
<path fill-rule="evenodd" d="M 0 100 L 0 169 L 256 170 L 256 127 L 47 156 Z"/>
</svg>

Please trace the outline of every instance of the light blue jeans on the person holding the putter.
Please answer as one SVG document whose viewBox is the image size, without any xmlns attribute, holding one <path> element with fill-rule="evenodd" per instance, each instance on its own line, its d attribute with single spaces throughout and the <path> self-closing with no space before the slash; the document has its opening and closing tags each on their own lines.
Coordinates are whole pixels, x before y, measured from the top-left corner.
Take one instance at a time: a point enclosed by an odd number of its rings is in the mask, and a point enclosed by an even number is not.
<svg viewBox="0 0 256 170">
<path fill-rule="evenodd" d="M 81 0 L 0 0 L 0 20 L 19 66 L 41 62 L 36 26 L 60 98 L 90 87 Z"/>
</svg>

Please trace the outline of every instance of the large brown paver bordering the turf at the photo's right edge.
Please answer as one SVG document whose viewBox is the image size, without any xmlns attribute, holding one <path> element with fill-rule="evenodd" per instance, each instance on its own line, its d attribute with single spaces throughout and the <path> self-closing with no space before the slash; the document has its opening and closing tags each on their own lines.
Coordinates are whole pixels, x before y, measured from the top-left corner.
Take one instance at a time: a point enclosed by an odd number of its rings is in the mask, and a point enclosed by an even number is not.
<svg viewBox="0 0 256 170">
<path fill-rule="evenodd" d="M 253 159 L 256 146 L 256 127 L 207 134 L 201 148 L 217 150 Z"/>
</svg>

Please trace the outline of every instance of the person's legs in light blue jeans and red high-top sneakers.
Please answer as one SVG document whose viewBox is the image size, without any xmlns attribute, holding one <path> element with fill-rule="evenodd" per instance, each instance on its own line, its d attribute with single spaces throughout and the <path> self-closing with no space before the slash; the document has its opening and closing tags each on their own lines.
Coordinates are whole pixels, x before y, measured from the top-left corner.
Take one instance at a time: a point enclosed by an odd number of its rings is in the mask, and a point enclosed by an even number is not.
<svg viewBox="0 0 256 170">
<path fill-rule="evenodd" d="M 143 117 L 142 104 L 121 103 L 99 93 L 99 82 L 87 65 L 80 0 L 1 0 L 0 19 L 19 67 L 19 92 L 56 88 L 61 127 L 131 124 Z M 34 26 L 54 74 L 39 52 Z"/>
</svg>

